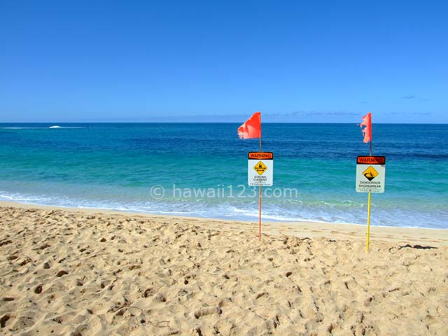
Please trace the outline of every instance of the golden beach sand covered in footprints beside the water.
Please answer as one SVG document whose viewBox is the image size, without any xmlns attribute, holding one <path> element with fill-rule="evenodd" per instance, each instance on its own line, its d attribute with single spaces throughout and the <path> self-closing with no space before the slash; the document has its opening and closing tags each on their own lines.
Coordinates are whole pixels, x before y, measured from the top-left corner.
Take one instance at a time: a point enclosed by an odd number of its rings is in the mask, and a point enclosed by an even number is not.
<svg viewBox="0 0 448 336">
<path fill-rule="evenodd" d="M 448 335 L 448 230 L 0 205 L 1 335 Z"/>
</svg>

